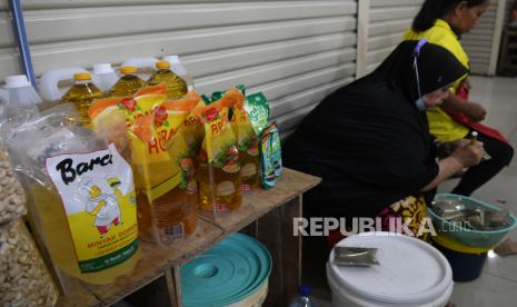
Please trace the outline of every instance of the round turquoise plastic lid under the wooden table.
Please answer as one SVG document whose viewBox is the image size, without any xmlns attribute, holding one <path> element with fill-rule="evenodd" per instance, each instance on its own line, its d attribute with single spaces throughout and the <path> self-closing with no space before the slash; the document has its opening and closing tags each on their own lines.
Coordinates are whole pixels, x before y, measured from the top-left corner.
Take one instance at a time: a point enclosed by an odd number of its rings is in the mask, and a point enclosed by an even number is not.
<svg viewBox="0 0 517 307">
<path fill-rule="evenodd" d="M 267 283 L 271 256 L 255 238 L 233 234 L 181 267 L 183 306 L 225 306 Z"/>
</svg>

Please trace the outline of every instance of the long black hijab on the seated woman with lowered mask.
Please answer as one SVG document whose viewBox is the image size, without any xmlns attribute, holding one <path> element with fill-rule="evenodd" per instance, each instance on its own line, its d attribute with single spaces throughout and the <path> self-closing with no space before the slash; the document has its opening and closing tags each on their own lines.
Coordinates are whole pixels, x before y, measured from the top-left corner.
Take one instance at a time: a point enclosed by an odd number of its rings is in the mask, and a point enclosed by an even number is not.
<svg viewBox="0 0 517 307">
<path fill-rule="evenodd" d="M 287 140 L 288 167 L 322 178 L 305 197 L 312 216 L 375 216 L 418 196 L 438 175 L 415 71 L 418 41 L 405 41 L 372 73 L 338 89 Z M 467 70 L 448 50 L 425 43 L 417 57 L 422 95 Z"/>
</svg>

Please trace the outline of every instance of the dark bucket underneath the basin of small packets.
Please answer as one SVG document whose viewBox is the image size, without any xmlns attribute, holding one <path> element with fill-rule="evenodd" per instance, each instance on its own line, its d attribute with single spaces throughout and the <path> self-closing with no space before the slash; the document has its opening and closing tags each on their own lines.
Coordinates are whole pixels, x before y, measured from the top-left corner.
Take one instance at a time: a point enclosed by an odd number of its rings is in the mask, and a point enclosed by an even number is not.
<svg viewBox="0 0 517 307">
<path fill-rule="evenodd" d="M 431 239 L 433 245 L 449 261 L 455 281 L 471 281 L 481 275 L 489 249 L 464 245 L 445 234 Z"/>
</svg>

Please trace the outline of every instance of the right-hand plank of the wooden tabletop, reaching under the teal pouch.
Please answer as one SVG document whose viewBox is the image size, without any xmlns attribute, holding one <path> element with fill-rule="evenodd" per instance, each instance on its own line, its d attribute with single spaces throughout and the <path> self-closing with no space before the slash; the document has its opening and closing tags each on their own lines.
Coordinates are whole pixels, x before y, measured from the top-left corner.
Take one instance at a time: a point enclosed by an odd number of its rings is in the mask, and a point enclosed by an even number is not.
<svg viewBox="0 0 517 307">
<path fill-rule="evenodd" d="M 320 181 L 321 179 L 318 177 L 286 168 L 274 189 L 258 190 L 255 195 L 243 198 L 239 210 L 218 217 L 213 217 L 211 214 L 202 214 L 201 217 L 215 222 L 225 231 L 238 231 L 272 209 L 317 186 Z"/>
</svg>

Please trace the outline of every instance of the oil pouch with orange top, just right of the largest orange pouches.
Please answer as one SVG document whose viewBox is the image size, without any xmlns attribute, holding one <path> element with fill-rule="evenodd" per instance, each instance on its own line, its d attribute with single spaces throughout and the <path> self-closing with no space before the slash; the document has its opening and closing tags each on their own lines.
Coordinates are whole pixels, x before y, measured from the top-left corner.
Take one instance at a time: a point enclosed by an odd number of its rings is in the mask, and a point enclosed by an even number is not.
<svg viewBox="0 0 517 307">
<path fill-rule="evenodd" d="M 199 156 L 206 158 L 208 166 L 206 170 L 198 169 L 201 209 L 213 212 L 216 217 L 237 210 L 242 204 L 239 150 L 228 118 L 230 107 L 238 99 L 243 99 L 242 95 L 232 91 L 196 110 L 196 116 L 205 126 Z"/>
</svg>

